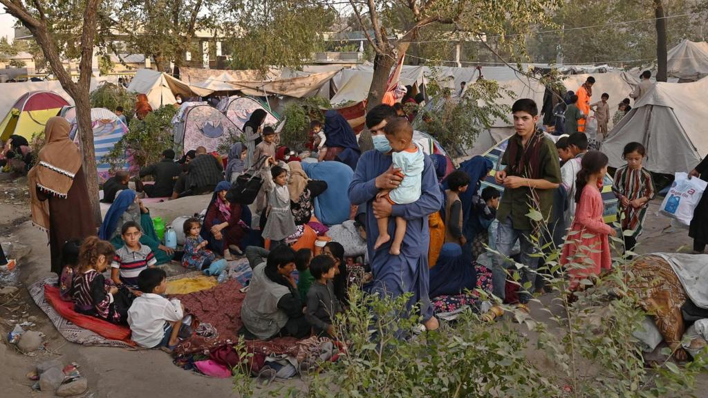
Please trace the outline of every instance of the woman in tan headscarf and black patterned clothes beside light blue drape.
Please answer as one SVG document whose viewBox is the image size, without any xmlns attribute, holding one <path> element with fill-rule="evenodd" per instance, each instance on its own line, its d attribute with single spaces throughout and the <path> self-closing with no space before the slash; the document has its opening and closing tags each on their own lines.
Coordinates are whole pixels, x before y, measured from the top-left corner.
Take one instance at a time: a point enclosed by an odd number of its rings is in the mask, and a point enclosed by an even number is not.
<svg viewBox="0 0 708 398">
<path fill-rule="evenodd" d="M 291 161 L 287 166 L 290 168 L 287 190 L 292 217 L 295 217 L 295 225 L 307 224 L 314 212 L 314 198 L 327 189 L 327 182 L 307 178 L 299 161 Z"/>
</svg>

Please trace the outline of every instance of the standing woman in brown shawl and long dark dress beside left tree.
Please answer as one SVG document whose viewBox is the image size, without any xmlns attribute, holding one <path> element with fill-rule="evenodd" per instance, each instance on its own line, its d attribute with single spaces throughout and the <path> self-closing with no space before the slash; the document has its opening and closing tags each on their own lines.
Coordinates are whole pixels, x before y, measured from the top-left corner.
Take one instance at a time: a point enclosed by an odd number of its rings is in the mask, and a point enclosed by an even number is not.
<svg viewBox="0 0 708 398">
<path fill-rule="evenodd" d="M 69 140 L 69 122 L 47 121 L 45 146 L 29 174 L 32 222 L 49 235 L 52 272 L 60 273 L 62 245 L 96 234 L 79 147 Z"/>
</svg>

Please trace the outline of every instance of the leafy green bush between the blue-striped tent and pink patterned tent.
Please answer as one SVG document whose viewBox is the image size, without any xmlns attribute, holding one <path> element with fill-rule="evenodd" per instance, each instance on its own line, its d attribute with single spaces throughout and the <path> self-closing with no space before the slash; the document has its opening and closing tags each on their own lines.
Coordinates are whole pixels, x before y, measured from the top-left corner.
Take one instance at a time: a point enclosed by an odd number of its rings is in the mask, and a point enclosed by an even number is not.
<svg viewBox="0 0 708 398">
<path fill-rule="evenodd" d="M 177 109 L 171 105 L 163 106 L 145 116 L 144 120 L 133 118 L 128 125 L 128 132 L 105 157 L 111 171 L 120 169 L 125 159 L 132 157 L 131 171 L 152 164 L 162 158 L 162 151 L 173 148 L 172 118 Z"/>
</svg>

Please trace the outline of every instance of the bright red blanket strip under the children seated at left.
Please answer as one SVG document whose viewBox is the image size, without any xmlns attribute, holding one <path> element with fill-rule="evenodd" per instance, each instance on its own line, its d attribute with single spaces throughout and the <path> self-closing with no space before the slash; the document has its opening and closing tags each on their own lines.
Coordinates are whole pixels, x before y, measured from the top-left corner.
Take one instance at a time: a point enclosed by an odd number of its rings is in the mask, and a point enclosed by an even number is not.
<svg viewBox="0 0 708 398">
<path fill-rule="evenodd" d="M 116 325 L 104 321 L 103 319 L 79 314 L 74 311 L 73 302 L 64 301 L 61 297 L 59 297 L 59 288 L 51 285 L 45 285 L 45 300 L 47 300 L 47 302 L 54 307 L 57 314 L 61 315 L 62 318 L 67 319 L 67 321 L 72 322 L 76 326 L 89 329 L 96 334 L 100 334 L 106 339 L 125 341 L 125 343 L 128 343 L 131 346 L 135 346 L 135 342 L 130 340 L 130 328 L 128 326 Z"/>
</svg>

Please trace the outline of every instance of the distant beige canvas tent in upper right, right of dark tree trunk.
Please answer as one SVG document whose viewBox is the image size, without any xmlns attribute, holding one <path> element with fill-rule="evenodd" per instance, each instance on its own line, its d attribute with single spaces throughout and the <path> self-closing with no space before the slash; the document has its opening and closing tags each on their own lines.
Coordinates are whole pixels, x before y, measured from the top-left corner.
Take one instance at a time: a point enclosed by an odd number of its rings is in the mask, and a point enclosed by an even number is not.
<svg viewBox="0 0 708 398">
<path fill-rule="evenodd" d="M 679 83 L 708 76 L 708 42 L 681 40 L 669 50 L 666 69 L 668 76 L 678 78 Z"/>
</svg>

